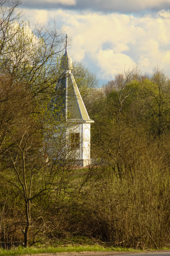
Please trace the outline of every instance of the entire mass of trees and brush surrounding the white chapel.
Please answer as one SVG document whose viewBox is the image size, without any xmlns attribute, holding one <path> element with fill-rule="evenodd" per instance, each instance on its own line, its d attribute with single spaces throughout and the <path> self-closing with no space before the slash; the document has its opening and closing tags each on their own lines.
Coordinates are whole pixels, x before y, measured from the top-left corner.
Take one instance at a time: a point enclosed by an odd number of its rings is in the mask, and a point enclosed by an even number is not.
<svg viewBox="0 0 170 256">
<path fill-rule="evenodd" d="M 97 88 L 96 76 L 74 64 L 95 123 L 92 165 L 73 168 L 74 155 L 63 147 L 67 123 L 48 111 L 62 74 L 63 32 L 30 32 L 18 4 L 3 0 L 0 9 L 0 242 L 55 245 L 83 236 L 169 246 L 169 78 L 133 69 Z"/>
</svg>

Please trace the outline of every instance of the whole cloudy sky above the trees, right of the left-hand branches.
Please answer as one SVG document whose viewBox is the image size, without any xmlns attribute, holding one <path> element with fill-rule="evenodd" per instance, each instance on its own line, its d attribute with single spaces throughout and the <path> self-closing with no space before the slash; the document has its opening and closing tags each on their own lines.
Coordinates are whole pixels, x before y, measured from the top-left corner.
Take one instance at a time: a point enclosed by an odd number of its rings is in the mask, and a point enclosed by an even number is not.
<svg viewBox="0 0 170 256">
<path fill-rule="evenodd" d="M 55 19 L 65 27 L 72 60 L 96 73 L 100 86 L 136 65 L 170 75 L 170 0 L 22 1 L 30 24 Z"/>
</svg>

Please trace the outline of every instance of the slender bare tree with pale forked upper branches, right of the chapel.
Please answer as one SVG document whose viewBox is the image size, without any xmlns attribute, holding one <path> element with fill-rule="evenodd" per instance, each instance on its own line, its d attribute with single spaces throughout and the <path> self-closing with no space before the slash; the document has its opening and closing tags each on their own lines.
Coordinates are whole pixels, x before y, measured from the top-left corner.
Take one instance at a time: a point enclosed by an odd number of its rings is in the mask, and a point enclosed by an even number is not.
<svg viewBox="0 0 170 256">
<path fill-rule="evenodd" d="M 124 158 L 126 124 L 123 114 L 123 106 L 128 97 L 133 93 L 134 88 L 131 82 L 136 77 L 137 67 L 133 69 L 124 68 L 124 73 L 115 76 L 115 79 L 109 82 L 110 94 L 105 95 L 104 103 L 104 125 L 100 127 L 100 137 L 98 151 L 101 150 L 101 162 L 110 166 L 113 172 L 121 179 L 122 170 L 121 163 Z M 106 113 L 107 111 L 107 113 Z M 112 113 L 112 116 L 111 116 Z M 96 124 L 97 126 L 98 124 Z M 102 143 L 101 143 L 102 142 Z M 101 149 L 99 149 L 101 147 Z"/>
</svg>

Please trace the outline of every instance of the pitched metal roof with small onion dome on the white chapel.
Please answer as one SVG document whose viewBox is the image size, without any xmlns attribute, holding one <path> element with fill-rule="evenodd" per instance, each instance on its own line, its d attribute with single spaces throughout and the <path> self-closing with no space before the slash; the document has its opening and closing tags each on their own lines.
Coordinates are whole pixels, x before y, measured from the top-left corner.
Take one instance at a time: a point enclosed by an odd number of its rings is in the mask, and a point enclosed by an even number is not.
<svg viewBox="0 0 170 256">
<path fill-rule="evenodd" d="M 93 123 L 89 118 L 84 102 L 78 90 L 72 71 L 72 60 L 68 54 L 67 45 L 65 54 L 61 58 L 63 76 L 56 85 L 56 96 L 51 100 L 52 112 L 63 114 L 68 121 Z"/>
</svg>

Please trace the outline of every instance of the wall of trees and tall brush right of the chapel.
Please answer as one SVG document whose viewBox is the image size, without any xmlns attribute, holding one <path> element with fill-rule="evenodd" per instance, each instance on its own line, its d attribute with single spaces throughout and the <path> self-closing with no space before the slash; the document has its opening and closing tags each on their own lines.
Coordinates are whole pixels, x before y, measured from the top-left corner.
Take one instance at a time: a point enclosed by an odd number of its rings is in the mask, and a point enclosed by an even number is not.
<svg viewBox="0 0 170 256">
<path fill-rule="evenodd" d="M 117 245 L 169 246 L 169 77 L 157 68 L 150 76 L 128 70 L 103 87 L 96 109 L 98 232 Z"/>
</svg>

